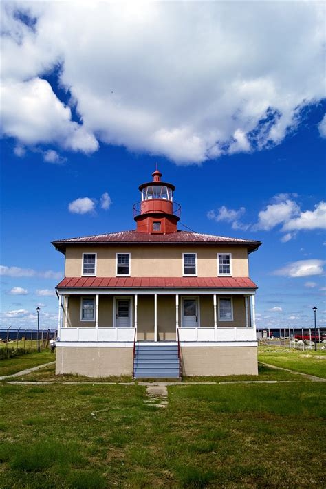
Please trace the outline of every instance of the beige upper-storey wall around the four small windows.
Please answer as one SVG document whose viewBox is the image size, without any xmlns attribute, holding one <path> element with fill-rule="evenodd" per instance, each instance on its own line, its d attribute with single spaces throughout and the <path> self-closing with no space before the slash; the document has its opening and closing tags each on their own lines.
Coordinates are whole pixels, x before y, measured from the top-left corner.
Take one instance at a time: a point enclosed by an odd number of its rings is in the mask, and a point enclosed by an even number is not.
<svg viewBox="0 0 326 489">
<path fill-rule="evenodd" d="M 65 276 L 82 275 L 83 253 L 97 253 L 96 276 L 116 276 L 116 253 L 131 253 L 131 276 L 182 276 L 182 253 L 197 253 L 197 276 L 217 276 L 217 253 L 232 253 L 232 276 L 248 276 L 246 246 L 67 246 Z"/>
</svg>

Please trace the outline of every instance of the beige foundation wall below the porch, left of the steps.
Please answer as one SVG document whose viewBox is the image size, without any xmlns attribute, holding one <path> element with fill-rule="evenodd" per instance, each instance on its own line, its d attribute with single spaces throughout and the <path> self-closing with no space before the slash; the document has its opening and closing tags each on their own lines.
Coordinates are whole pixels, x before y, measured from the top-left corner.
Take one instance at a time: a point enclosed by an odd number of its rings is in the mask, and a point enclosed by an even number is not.
<svg viewBox="0 0 326 489">
<path fill-rule="evenodd" d="M 128 347 L 60 347 L 56 349 L 56 374 L 87 377 L 131 376 L 133 349 Z"/>
</svg>

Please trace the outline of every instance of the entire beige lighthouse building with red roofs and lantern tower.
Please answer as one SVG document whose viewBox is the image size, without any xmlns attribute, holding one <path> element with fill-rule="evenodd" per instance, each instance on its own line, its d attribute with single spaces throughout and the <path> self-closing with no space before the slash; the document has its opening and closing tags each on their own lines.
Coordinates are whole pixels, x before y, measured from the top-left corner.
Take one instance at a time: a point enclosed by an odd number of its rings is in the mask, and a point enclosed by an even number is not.
<svg viewBox="0 0 326 489">
<path fill-rule="evenodd" d="M 257 374 L 248 255 L 261 243 L 177 230 L 161 177 L 139 187 L 135 230 L 53 241 L 65 254 L 56 373 Z"/>
</svg>

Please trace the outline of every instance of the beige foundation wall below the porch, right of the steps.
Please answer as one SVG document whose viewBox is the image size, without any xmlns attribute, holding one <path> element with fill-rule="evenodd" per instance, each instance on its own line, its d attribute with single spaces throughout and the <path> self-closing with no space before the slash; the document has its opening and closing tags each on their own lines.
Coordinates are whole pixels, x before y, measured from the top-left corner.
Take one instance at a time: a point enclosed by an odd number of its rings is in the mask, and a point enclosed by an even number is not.
<svg viewBox="0 0 326 489">
<path fill-rule="evenodd" d="M 182 375 L 258 375 L 257 347 L 182 347 Z"/>
</svg>

